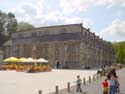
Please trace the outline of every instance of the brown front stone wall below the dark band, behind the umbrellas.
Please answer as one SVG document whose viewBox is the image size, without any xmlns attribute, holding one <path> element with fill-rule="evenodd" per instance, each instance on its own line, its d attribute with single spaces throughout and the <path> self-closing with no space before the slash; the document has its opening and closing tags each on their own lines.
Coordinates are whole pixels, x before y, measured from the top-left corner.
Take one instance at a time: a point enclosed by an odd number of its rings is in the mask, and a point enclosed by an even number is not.
<svg viewBox="0 0 125 94">
<path fill-rule="evenodd" d="M 33 46 L 36 51 L 33 53 Z M 80 67 L 80 42 L 79 41 L 62 41 L 62 42 L 45 42 L 36 44 L 24 44 L 15 46 L 16 57 L 33 57 L 45 58 L 54 65 L 59 61 L 62 67 L 69 66 L 69 68 Z"/>
</svg>

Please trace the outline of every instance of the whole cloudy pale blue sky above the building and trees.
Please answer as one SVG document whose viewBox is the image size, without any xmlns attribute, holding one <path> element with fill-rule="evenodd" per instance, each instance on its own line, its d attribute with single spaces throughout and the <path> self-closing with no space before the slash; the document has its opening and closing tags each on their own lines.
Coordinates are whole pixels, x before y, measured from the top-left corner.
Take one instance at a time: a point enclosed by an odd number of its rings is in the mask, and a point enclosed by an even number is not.
<svg viewBox="0 0 125 94">
<path fill-rule="evenodd" d="M 125 41 L 125 0 L 0 0 L 0 10 L 35 27 L 82 23 L 104 40 Z"/>
</svg>

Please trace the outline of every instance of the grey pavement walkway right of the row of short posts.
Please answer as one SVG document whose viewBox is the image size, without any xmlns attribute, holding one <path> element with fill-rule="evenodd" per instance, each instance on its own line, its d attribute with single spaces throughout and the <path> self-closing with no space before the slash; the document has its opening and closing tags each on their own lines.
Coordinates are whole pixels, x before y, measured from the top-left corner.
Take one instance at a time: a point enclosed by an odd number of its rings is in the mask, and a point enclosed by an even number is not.
<svg viewBox="0 0 125 94">
<path fill-rule="evenodd" d="M 120 82 L 120 94 L 125 94 L 125 68 L 117 71 L 117 75 L 119 76 Z M 82 85 L 83 93 L 76 92 L 76 86 L 71 87 L 71 92 L 67 92 L 67 89 L 63 89 L 59 91 L 59 94 L 102 94 L 102 81 L 105 77 L 99 78 L 99 80 L 92 81 L 91 83 L 86 83 L 86 85 Z M 50 93 L 55 94 L 55 93 Z"/>
</svg>

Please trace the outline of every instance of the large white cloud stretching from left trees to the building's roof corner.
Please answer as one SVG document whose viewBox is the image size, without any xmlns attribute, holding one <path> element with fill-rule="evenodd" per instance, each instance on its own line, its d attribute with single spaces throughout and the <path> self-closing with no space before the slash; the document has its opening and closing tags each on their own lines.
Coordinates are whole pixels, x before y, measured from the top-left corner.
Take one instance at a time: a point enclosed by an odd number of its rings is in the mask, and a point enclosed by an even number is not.
<svg viewBox="0 0 125 94">
<path fill-rule="evenodd" d="M 89 27 L 93 22 L 88 18 L 76 17 L 60 13 L 60 10 L 48 9 L 47 3 L 40 0 L 36 4 L 24 3 L 23 5 L 10 9 L 18 21 L 25 21 L 36 27 L 57 24 L 74 24 L 83 23 L 85 27 Z"/>
</svg>

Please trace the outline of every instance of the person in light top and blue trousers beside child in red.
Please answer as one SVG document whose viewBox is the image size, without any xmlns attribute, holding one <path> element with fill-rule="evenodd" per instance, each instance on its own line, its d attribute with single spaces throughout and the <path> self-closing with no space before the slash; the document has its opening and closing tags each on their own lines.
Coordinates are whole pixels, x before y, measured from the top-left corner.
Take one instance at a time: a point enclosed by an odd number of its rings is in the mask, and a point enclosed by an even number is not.
<svg viewBox="0 0 125 94">
<path fill-rule="evenodd" d="M 110 89 L 109 94 L 115 94 L 116 93 L 116 77 L 112 74 L 110 78 Z"/>
</svg>

